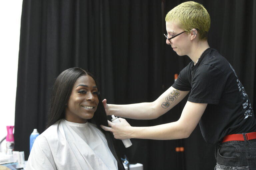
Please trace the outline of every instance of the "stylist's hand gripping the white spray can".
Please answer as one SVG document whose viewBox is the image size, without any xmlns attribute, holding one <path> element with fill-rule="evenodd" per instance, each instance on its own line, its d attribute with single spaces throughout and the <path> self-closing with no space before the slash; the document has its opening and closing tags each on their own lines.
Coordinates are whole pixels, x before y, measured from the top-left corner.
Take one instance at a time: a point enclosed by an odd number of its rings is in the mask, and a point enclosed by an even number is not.
<svg viewBox="0 0 256 170">
<path fill-rule="evenodd" d="M 116 139 L 130 139 L 133 138 L 133 127 L 123 118 L 118 118 L 120 122 L 112 123 L 108 121 L 110 127 L 101 125 L 100 127 L 106 131 L 111 131 Z"/>
</svg>

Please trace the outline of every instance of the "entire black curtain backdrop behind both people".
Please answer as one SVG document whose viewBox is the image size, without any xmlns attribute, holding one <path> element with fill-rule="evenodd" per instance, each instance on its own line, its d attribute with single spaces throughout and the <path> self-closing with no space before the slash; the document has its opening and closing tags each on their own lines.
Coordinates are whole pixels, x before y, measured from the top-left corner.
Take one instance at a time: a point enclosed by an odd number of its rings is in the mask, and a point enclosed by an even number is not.
<svg viewBox="0 0 256 170">
<path fill-rule="evenodd" d="M 65 69 L 81 67 L 97 78 L 112 104 L 151 102 L 167 90 L 191 60 L 165 44 L 165 15 L 181 0 L 23 0 L 15 111 L 15 150 L 29 155 L 33 128 L 45 130 L 51 87 Z M 211 17 L 209 45 L 235 68 L 256 107 L 255 0 L 198 0 Z M 179 119 L 184 99 L 156 120 L 127 121 L 155 126 Z M 143 108 L 141 108 L 143 109 Z M 214 169 L 215 145 L 197 127 L 183 140 L 131 139 L 118 152 L 144 170 Z M 184 146 L 183 153 L 175 147 Z M 184 166 L 181 166 L 183 163 Z"/>
</svg>

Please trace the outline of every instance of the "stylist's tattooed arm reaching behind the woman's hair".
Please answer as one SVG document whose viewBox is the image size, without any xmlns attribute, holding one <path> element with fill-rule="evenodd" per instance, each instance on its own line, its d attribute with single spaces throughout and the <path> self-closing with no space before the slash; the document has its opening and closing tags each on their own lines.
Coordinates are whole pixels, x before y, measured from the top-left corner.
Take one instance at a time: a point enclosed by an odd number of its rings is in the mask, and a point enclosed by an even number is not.
<svg viewBox="0 0 256 170">
<path fill-rule="evenodd" d="M 107 104 L 104 99 L 103 105 L 107 115 L 115 115 L 130 119 L 156 119 L 177 105 L 189 91 L 180 91 L 173 87 L 166 90 L 158 99 L 149 103 L 137 103 L 129 105 Z"/>
</svg>

